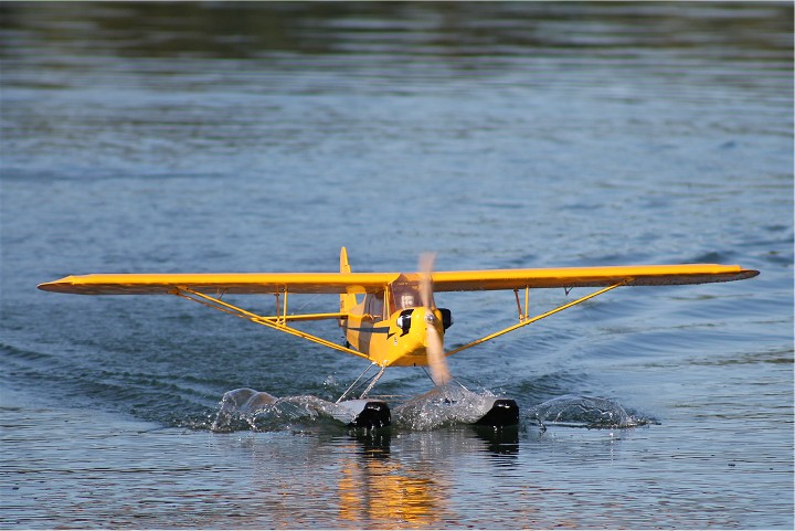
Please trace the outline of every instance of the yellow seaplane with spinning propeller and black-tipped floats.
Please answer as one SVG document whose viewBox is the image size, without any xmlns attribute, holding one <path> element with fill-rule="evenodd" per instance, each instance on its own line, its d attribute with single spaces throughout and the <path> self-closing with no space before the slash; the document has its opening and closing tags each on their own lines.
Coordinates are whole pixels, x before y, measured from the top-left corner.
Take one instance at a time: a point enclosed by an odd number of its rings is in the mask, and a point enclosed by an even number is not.
<svg viewBox="0 0 795 531">
<path fill-rule="evenodd" d="M 372 428 L 391 422 L 389 405 L 382 400 L 368 397 L 389 367 L 427 367 L 436 387 L 442 387 L 453 380 L 446 357 L 612 289 L 722 283 L 759 275 L 757 270 L 738 265 L 717 264 L 434 272 L 433 259 L 433 255 L 423 255 L 415 273 L 352 273 L 348 253 L 342 247 L 339 273 L 94 274 L 40 284 L 39 289 L 78 295 L 174 295 L 368 360 L 367 370 L 337 401 L 335 417 L 351 426 Z M 550 311 L 531 316 L 530 289 L 539 288 L 563 288 L 566 294 L 573 288 L 596 289 Z M 453 316 L 448 309 L 436 307 L 434 291 L 478 290 L 512 290 L 518 322 L 445 351 L 444 336 L 453 325 Z M 273 295 L 276 298 L 275 312 L 259 315 L 246 310 L 223 300 L 227 294 Z M 288 296 L 294 294 L 339 295 L 339 311 L 290 314 Z M 342 344 L 295 326 L 321 319 L 339 323 L 346 338 Z M 364 380 L 373 368 L 378 371 Z M 236 407 L 243 407 L 246 402 L 252 406 L 275 400 L 267 393 L 245 389 L 230 393 L 224 396 L 224 403 Z M 519 407 L 510 399 L 484 400 L 471 422 L 489 426 L 515 425 L 519 422 Z"/>
</svg>

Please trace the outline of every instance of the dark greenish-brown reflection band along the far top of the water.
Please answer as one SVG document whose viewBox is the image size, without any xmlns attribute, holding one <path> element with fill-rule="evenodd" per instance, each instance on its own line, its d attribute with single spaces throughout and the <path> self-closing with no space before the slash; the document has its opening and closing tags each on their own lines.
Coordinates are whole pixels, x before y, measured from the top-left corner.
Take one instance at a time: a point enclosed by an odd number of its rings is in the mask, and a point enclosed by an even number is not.
<svg viewBox="0 0 795 531">
<path fill-rule="evenodd" d="M 3 54 L 36 34 L 75 54 L 123 57 L 261 59 L 292 54 L 433 55 L 451 65 L 499 68 L 505 57 L 596 52 L 616 60 L 678 49 L 739 59 L 774 59 L 792 6 L 691 3 L 205 2 L 3 3 Z M 778 14 L 778 15 L 776 15 Z M 629 46 L 628 44 L 632 44 Z M 20 50 L 19 46 L 15 47 Z M 755 50 L 755 53 L 750 53 Z M 489 57 L 488 63 L 463 61 Z M 502 57 L 502 59 L 500 59 Z"/>
</svg>

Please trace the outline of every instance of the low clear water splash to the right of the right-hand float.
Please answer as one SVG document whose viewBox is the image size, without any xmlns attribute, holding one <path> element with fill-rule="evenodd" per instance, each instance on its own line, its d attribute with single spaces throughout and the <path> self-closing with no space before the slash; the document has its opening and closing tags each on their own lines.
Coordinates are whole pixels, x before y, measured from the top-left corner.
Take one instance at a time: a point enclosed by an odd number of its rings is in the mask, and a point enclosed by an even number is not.
<svg viewBox="0 0 795 531">
<path fill-rule="evenodd" d="M 545 431 L 548 424 L 587 428 L 627 428 L 654 421 L 627 413 L 618 403 L 602 397 L 566 394 L 537 405 L 531 421 Z"/>
</svg>

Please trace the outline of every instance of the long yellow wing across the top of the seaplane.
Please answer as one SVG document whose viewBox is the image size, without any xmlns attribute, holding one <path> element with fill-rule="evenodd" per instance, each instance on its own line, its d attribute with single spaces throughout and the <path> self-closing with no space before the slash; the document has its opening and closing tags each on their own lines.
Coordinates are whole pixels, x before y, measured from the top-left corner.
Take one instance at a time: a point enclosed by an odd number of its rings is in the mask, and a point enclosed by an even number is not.
<svg viewBox="0 0 795 531">
<path fill-rule="evenodd" d="M 738 265 L 686 264 L 657 266 L 570 267 L 436 272 L 436 291 L 486 289 L 661 286 L 742 280 L 757 270 Z M 230 294 L 363 294 L 379 293 L 393 282 L 420 282 L 420 274 L 399 273 L 178 273 L 67 276 L 39 289 L 80 295 L 166 295 L 176 288 Z"/>
</svg>

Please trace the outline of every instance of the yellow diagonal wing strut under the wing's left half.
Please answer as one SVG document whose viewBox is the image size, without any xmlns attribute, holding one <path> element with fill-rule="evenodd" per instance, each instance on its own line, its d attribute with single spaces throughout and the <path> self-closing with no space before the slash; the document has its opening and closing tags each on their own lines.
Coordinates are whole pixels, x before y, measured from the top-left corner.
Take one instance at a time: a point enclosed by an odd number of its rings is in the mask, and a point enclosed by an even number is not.
<svg viewBox="0 0 795 531">
<path fill-rule="evenodd" d="M 296 336 L 298 338 L 306 339 L 308 341 L 314 341 L 318 344 L 322 344 L 324 347 L 328 347 L 330 349 L 339 350 L 342 352 L 347 352 L 349 354 L 353 354 L 353 355 L 358 355 L 360 358 L 368 359 L 368 355 L 364 354 L 363 352 L 359 352 L 358 350 L 342 347 L 341 344 L 337 344 L 327 339 L 319 338 L 311 333 L 308 333 L 308 332 L 305 332 L 305 331 L 301 331 L 301 330 L 298 330 L 296 328 L 288 326 L 287 325 L 288 320 L 340 319 L 340 318 L 346 317 L 347 314 L 304 314 L 304 315 L 299 315 L 299 316 L 288 316 L 287 315 L 287 305 L 286 305 L 286 301 L 287 301 L 286 291 L 285 291 L 284 312 L 282 315 L 278 315 L 275 317 L 258 316 L 248 310 L 244 310 L 243 308 L 231 305 L 229 302 L 224 302 L 221 299 L 211 297 L 211 296 L 202 294 L 200 291 L 194 291 L 193 289 L 190 289 L 187 287 L 177 287 L 177 288 L 172 289 L 170 293 L 171 293 L 171 295 L 182 297 L 183 299 L 192 300 L 193 302 L 199 302 L 200 305 L 206 306 L 208 308 L 213 308 L 213 309 L 222 311 L 224 314 L 240 317 L 241 319 L 247 319 L 252 322 L 256 322 L 257 325 L 263 325 L 265 327 L 273 328 L 274 330 L 278 330 L 280 332 L 289 333 L 292 336 Z"/>
</svg>

